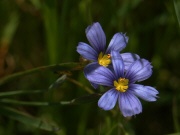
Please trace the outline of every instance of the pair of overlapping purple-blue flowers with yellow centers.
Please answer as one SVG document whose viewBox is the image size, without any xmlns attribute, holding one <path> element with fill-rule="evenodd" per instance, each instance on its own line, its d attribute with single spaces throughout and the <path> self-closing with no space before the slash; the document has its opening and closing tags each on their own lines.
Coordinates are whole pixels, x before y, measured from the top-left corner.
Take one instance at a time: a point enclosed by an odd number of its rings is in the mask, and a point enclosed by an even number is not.
<svg viewBox="0 0 180 135">
<path fill-rule="evenodd" d="M 90 45 L 80 42 L 77 52 L 91 63 L 84 68 L 85 77 L 94 88 L 108 86 L 98 101 L 98 106 L 111 110 L 118 102 L 124 117 L 142 112 L 138 97 L 145 101 L 156 101 L 158 91 L 151 86 L 135 84 L 152 75 L 152 65 L 137 54 L 121 53 L 128 42 L 123 33 L 116 33 L 106 49 L 106 36 L 101 25 L 96 22 L 86 29 Z"/>
</svg>

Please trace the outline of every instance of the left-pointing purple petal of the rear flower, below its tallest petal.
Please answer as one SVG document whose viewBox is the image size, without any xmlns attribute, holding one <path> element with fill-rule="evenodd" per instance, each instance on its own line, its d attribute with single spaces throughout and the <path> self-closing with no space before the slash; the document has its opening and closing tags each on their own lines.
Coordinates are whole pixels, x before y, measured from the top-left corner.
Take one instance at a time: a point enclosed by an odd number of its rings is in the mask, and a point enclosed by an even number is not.
<svg viewBox="0 0 180 135">
<path fill-rule="evenodd" d="M 77 52 L 85 59 L 97 61 L 98 53 L 88 44 L 80 42 L 77 46 Z"/>
</svg>

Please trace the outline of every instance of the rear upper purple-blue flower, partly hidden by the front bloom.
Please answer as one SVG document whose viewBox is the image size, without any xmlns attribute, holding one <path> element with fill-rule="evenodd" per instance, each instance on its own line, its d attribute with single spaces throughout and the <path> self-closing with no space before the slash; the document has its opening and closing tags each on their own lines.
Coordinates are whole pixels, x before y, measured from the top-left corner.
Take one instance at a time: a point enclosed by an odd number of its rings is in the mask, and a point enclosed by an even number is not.
<svg viewBox="0 0 180 135">
<path fill-rule="evenodd" d="M 90 45 L 80 42 L 77 46 L 77 52 L 85 59 L 92 61 L 91 64 L 96 65 L 94 67 L 108 67 L 111 64 L 110 52 L 112 50 L 120 52 L 126 47 L 128 42 L 128 37 L 125 34 L 116 33 L 106 49 L 106 36 L 98 22 L 88 26 L 85 32 Z M 136 59 L 139 59 L 139 56 L 133 53 L 122 53 L 121 56 L 125 63 L 125 69 L 127 69 Z M 85 67 L 84 71 L 86 71 L 86 68 L 87 67 Z M 84 73 L 86 76 L 87 73 Z M 95 88 L 97 87 L 95 85 L 93 86 Z"/>
</svg>

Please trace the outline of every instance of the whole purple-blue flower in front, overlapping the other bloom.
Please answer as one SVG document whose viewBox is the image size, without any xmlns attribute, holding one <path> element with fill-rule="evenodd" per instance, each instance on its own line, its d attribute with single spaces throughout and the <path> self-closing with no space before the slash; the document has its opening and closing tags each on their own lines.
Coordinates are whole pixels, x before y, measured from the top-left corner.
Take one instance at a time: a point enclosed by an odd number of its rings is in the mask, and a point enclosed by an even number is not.
<svg viewBox="0 0 180 135">
<path fill-rule="evenodd" d="M 123 59 L 118 52 L 112 51 L 111 59 L 113 70 L 103 66 L 88 65 L 85 71 L 89 81 L 110 87 L 99 99 L 98 106 L 104 110 L 111 110 L 118 102 L 124 117 L 141 113 L 142 105 L 137 97 L 152 102 L 156 101 L 158 94 L 158 91 L 151 86 L 135 84 L 151 76 L 150 62 L 138 59 L 125 70 Z"/>
</svg>

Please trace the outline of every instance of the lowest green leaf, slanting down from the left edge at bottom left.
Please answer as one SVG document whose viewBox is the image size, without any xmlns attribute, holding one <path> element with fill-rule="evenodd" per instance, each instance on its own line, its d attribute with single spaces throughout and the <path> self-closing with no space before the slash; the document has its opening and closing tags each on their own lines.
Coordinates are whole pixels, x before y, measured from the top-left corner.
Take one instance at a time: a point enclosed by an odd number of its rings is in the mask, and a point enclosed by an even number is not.
<svg viewBox="0 0 180 135">
<path fill-rule="evenodd" d="M 54 123 L 50 123 L 42 121 L 40 119 L 34 118 L 30 116 L 29 114 L 26 114 L 24 112 L 20 112 L 18 110 L 15 110 L 13 108 L 9 107 L 0 107 L 0 114 L 7 116 L 11 119 L 17 120 L 21 123 L 24 123 L 28 126 L 33 126 L 36 128 L 40 128 L 47 131 L 57 131 L 59 130 L 59 127 L 57 127 Z"/>
</svg>

